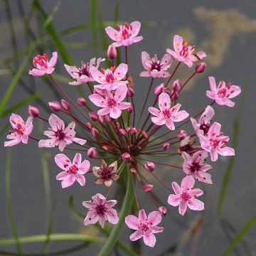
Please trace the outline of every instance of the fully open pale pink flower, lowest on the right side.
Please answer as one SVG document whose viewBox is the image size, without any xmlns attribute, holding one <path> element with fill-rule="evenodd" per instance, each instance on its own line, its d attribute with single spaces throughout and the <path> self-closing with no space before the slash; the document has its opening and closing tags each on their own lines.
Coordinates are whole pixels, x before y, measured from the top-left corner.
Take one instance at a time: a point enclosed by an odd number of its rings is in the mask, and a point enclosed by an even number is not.
<svg viewBox="0 0 256 256">
<path fill-rule="evenodd" d="M 195 180 L 192 176 L 186 176 L 181 181 L 181 187 L 175 181 L 171 183 L 174 193 L 168 197 L 168 203 L 171 206 L 178 206 L 178 212 L 181 215 L 186 213 L 187 206 L 191 210 L 204 210 L 202 201 L 196 199 L 198 196 L 203 195 L 203 191 L 199 188 L 194 188 Z"/>
</svg>

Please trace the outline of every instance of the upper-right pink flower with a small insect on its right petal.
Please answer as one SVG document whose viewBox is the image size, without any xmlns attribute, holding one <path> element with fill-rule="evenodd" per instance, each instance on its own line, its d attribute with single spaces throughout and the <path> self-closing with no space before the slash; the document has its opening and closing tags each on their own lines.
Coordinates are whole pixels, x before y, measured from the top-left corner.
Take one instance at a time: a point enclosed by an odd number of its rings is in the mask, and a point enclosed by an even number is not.
<svg viewBox="0 0 256 256">
<path fill-rule="evenodd" d="M 167 53 L 172 55 L 176 60 L 183 62 L 191 68 L 193 62 L 196 60 L 202 60 L 206 57 L 206 53 L 200 51 L 198 53 L 194 53 L 196 46 L 188 46 L 188 42 L 183 40 L 181 36 L 174 36 L 174 50 L 167 49 Z"/>
</svg>

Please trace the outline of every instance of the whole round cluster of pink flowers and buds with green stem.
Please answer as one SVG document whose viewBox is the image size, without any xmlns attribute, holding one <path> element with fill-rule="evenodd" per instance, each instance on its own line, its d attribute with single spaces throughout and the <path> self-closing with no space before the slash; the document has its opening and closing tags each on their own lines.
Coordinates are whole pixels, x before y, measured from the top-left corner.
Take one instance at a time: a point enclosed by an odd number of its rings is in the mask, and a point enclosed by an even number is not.
<svg viewBox="0 0 256 256">
<path fill-rule="evenodd" d="M 149 80 L 149 86 L 144 88 L 147 92 L 143 105 L 135 105 L 136 79 L 129 73 L 128 50 L 132 50 L 133 43 L 142 41 L 142 36 L 138 36 L 140 27 L 141 23 L 134 21 L 117 25 L 116 29 L 105 28 L 114 41 L 107 50 L 111 66 L 103 68 L 104 58 L 82 62 L 80 68 L 64 65 L 70 75 L 69 85 L 87 90 L 86 97 L 76 100 L 52 76 L 58 53 L 54 52 L 50 60 L 46 53 L 33 58 L 34 68 L 29 74 L 47 75 L 62 93 L 63 100 L 48 102 L 54 112 L 48 118 L 43 117 L 36 106 L 28 107 L 26 122 L 18 114 L 11 114 L 13 129 L 4 143 L 4 146 L 14 146 L 33 140 L 39 147 L 58 147 L 60 154 L 54 158 L 55 171 L 61 169 L 56 179 L 61 181 L 62 188 L 78 186 L 75 183 L 93 186 L 85 182 L 89 175 L 95 176 L 95 186 L 107 187 L 105 195 L 97 193 L 81 202 L 87 208 L 85 225 L 99 223 L 104 228 L 106 221 L 114 225 L 100 255 L 109 255 L 124 223 L 132 229 L 130 240 L 142 238 L 145 245 L 154 247 L 156 234 L 164 231 L 161 219 L 171 214 L 172 207 L 178 206 L 181 215 L 187 210 L 204 210 L 203 190 L 198 186 L 213 183 L 209 172 L 211 162 L 217 161 L 219 155 L 235 155 L 221 124 L 212 119 L 215 105 L 234 107 L 232 99 L 240 94 L 240 87 L 224 81 L 217 84 L 214 77 L 209 77 L 208 106 L 197 114 L 186 110 L 186 106 L 179 103 L 181 92 L 194 76 L 205 70 L 206 63 L 201 60 L 206 53 L 196 51 L 196 46 L 189 46 L 181 36 L 174 36 L 173 49 L 166 49 L 162 58 L 142 52 L 143 70 L 138 74 Z M 117 47 L 124 47 L 125 63 L 117 63 Z M 192 70 L 185 81 L 176 77 L 176 71 L 182 66 Z M 64 116 L 68 122 L 63 121 Z M 33 119 L 46 124 L 45 137 L 32 136 Z M 185 124 L 188 130 L 183 128 Z M 77 127 L 80 127 L 79 133 Z M 189 129 L 192 132 L 188 132 Z M 153 160 L 164 156 L 169 159 L 167 163 Z M 175 158 L 183 164 L 175 165 Z M 92 166 L 90 159 L 97 159 L 97 166 Z M 183 174 L 182 180 L 173 181 L 169 175 L 169 180 L 162 181 L 161 166 L 177 169 Z M 149 182 L 149 176 L 168 191 L 164 205 L 154 197 L 154 183 Z M 120 184 L 118 180 L 126 184 L 122 201 L 111 196 L 112 188 Z M 144 209 L 137 193 L 146 193 L 155 210 L 149 213 Z"/>
</svg>

